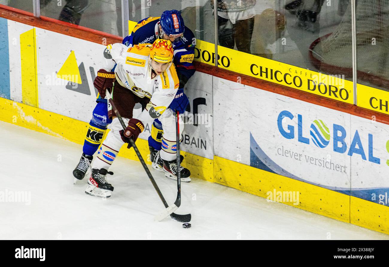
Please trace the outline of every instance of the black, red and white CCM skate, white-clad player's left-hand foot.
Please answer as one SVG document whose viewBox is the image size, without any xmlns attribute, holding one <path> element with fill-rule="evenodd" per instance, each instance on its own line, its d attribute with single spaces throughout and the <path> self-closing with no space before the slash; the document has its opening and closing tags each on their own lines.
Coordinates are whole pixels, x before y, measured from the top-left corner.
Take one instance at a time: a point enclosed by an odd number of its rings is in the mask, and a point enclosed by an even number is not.
<svg viewBox="0 0 389 267">
<path fill-rule="evenodd" d="M 85 193 L 96 197 L 110 197 L 114 187 L 105 179 L 107 174 L 113 175 L 114 173 L 106 169 L 92 169 Z"/>
</svg>

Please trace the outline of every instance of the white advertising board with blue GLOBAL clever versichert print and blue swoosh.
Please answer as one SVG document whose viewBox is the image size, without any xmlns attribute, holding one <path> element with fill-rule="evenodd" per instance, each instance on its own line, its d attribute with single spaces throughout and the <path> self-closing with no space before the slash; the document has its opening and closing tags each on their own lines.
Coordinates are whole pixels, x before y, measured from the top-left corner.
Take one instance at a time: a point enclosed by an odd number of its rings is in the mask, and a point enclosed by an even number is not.
<svg viewBox="0 0 389 267">
<path fill-rule="evenodd" d="M 218 107 L 214 109 L 215 155 L 389 203 L 389 178 L 385 175 L 389 126 L 374 118 L 214 80 L 214 106 Z"/>
</svg>

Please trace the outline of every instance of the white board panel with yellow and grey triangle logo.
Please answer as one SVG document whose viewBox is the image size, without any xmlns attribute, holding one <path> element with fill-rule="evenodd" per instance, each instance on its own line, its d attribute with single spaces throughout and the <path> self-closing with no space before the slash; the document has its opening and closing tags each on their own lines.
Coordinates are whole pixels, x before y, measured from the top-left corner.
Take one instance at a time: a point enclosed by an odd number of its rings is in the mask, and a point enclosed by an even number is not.
<svg viewBox="0 0 389 267">
<path fill-rule="evenodd" d="M 106 45 L 36 28 L 39 108 L 89 122 Z"/>
</svg>

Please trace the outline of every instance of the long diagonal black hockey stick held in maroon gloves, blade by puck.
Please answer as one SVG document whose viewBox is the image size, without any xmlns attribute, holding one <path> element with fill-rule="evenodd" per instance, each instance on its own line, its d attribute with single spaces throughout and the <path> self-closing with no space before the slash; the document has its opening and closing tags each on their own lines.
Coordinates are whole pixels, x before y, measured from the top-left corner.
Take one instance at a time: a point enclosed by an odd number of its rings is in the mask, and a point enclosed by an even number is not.
<svg viewBox="0 0 389 267">
<path fill-rule="evenodd" d="M 114 88 L 114 85 L 112 86 L 112 88 Z M 126 124 L 124 124 L 123 119 L 122 119 L 121 115 L 119 114 L 119 111 L 117 110 L 117 108 L 115 106 L 115 103 L 114 103 L 114 101 L 113 101 L 113 99 L 111 97 L 111 94 L 108 92 L 108 90 L 106 92 L 106 95 L 108 96 L 109 103 L 112 106 L 112 110 L 115 112 L 117 119 L 119 119 L 119 122 L 120 122 L 121 126 L 123 127 L 123 131 L 125 131 L 126 130 Z M 137 146 L 135 145 L 134 140 L 132 138 L 129 138 L 129 140 L 130 140 L 130 143 L 128 144 L 128 148 L 131 148 L 131 146 L 134 148 L 135 153 L 137 154 L 140 163 L 142 163 L 142 166 L 143 166 L 143 168 L 145 169 L 145 171 L 147 173 L 147 176 L 149 176 L 149 179 L 150 179 L 152 185 L 154 186 L 155 190 L 157 191 L 157 193 L 159 195 L 159 198 L 161 199 L 161 201 L 165 205 L 166 209 L 163 211 L 163 213 L 160 213 L 158 216 L 156 216 L 156 220 L 158 220 L 158 221 L 163 220 L 164 218 L 166 218 L 167 216 L 170 215 L 170 217 L 172 217 L 172 219 L 174 219 L 174 220 L 176 220 L 178 222 L 190 222 L 190 220 L 191 220 L 191 215 L 190 214 L 180 215 L 180 214 L 173 213 L 176 209 L 178 209 L 179 206 L 177 206 L 176 204 L 173 204 L 172 206 L 169 206 L 166 203 L 166 200 L 163 197 L 163 195 L 161 193 L 161 190 L 159 190 L 157 183 L 155 182 L 154 178 L 152 177 L 152 175 L 151 175 L 151 173 L 149 171 L 149 168 L 147 168 L 147 165 L 146 165 L 145 161 L 142 158 L 142 155 L 140 155 L 140 152 L 139 152 Z M 181 201 L 179 202 L 179 204 L 181 204 Z"/>
</svg>

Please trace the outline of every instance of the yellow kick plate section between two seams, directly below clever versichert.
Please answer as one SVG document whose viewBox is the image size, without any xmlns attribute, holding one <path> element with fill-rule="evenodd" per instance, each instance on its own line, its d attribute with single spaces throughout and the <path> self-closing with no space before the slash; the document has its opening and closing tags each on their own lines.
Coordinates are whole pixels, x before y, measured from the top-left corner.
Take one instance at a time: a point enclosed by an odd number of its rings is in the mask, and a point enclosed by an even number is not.
<svg viewBox="0 0 389 267">
<path fill-rule="evenodd" d="M 298 191 L 300 200 L 298 205 L 294 205 L 292 202 L 283 203 L 343 222 L 350 221 L 350 196 L 333 190 L 218 156 L 214 156 L 214 179 L 222 185 L 265 198 L 268 197 L 266 193 L 273 192 L 274 189 L 287 192 Z"/>
</svg>

